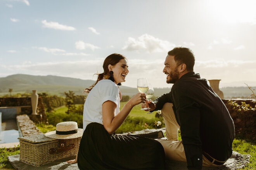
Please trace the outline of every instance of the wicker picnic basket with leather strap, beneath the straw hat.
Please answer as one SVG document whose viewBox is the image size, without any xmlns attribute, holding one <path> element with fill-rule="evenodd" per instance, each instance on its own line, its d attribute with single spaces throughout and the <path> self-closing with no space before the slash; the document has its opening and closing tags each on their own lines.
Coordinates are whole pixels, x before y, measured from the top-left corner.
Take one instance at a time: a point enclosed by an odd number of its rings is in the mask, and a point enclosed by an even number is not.
<svg viewBox="0 0 256 170">
<path fill-rule="evenodd" d="M 81 137 L 53 139 L 45 134 L 18 138 L 20 143 L 19 160 L 39 167 L 46 163 L 71 155 L 76 155 Z"/>
</svg>

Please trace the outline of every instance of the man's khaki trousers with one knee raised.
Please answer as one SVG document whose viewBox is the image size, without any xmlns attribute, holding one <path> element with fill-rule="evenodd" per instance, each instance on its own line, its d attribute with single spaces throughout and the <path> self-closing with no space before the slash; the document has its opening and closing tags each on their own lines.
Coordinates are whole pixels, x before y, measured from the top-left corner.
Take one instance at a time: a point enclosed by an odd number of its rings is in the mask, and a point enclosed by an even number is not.
<svg viewBox="0 0 256 170">
<path fill-rule="evenodd" d="M 178 141 L 178 129 L 180 129 L 180 126 L 176 121 L 172 107 L 172 103 L 166 103 L 161 110 L 166 127 L 167 140 L 157 139 L 157 141 L 163 145 L 167 160 L 187 161 L 182 141 Z M 204 155 L 202 155 L 202 159 L 203 166 L 219 166 L 211 163 Z"/>
</svg>

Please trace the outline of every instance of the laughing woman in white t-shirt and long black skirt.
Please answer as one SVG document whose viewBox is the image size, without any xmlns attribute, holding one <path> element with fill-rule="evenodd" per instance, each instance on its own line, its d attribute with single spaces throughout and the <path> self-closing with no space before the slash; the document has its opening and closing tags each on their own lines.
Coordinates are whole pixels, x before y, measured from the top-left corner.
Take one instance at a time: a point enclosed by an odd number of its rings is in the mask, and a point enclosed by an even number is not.
<svg viewBox="0 0 256 170">
<path fill-rule="evenodd" d="M 104 72 L 86 88 L 83 136 L 76 160 L 84 169 L 164 169 L 163 146 L 156 140 L 136 135 L 116 135 L 131 109 L 145 103 L 144 93 L 135 94 L 119 112 L 121 92 L 128 63 L 125 56 L 111 54 L 103 63 Z"/>
</svg>

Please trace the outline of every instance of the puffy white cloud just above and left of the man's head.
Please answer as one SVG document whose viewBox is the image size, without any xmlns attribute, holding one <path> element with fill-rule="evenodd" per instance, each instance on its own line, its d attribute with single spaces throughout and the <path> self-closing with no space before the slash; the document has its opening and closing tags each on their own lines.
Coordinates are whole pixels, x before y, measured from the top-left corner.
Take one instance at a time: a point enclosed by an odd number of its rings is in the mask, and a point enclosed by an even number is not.
<svg viewBox="0 0 256 170">
<path fill-rule="evenodd" d="M 166 52 L 173 47 L 175 47 L 175 45 L 168 41 L 158 39 L 148 34 L 143 34 L 142 36 L 138 37 L 138 39 L 128 37 L 128 40 L 125 42 L 125 46 L 123 46 L 122 49 L 126 49 L 128 51 L 146 50 L 149 53 L 152 53 L 163 51 Z"/>
</svg>

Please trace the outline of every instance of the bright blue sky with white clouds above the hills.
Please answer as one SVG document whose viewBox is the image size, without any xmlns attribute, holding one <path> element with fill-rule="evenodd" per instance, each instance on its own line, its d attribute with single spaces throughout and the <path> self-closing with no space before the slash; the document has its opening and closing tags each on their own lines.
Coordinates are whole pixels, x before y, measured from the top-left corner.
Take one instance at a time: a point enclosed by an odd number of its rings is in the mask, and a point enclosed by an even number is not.
<svg viewBox="0 0 256 170">
<path fill-rule="evenodd" d="M 0 77 L 96 80 L 104 59 L 128 59 L 124 86 L 163 73 L 174 47 L 190 48 L 195 73 L 220 87 L 256 86 L 255 0 L 0 0 Z"/>
</svg>

